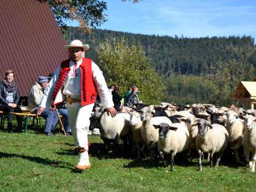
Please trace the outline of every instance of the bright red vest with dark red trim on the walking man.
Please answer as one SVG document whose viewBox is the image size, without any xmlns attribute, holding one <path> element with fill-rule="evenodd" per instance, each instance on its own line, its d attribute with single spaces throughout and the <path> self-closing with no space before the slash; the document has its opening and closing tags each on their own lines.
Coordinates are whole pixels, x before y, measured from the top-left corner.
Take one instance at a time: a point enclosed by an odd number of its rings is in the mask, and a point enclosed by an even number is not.
<svg viewBox="0 0 256 192">
<path fill-rule="evenodd" d="M 59 79 L 56 83 L 56 87 L 53 93 L 53 101 L 55 102 L 56 96 L 59 91 L 63 88 L 63 84 L 67 78 L 67 75 L 70 72 L 69 67 L 70 59 L 63 61 L 61 63 L 61 72 L 59 74 Z M 80 90 L 81 90 L 81 105 L 93 104 L 96 100 L 97 93 L 95 91 L 93 83 L 93 72 L 91 70 L 91 59 L 83 58 L 83 61 L 80 65 Z"/>
</svg>

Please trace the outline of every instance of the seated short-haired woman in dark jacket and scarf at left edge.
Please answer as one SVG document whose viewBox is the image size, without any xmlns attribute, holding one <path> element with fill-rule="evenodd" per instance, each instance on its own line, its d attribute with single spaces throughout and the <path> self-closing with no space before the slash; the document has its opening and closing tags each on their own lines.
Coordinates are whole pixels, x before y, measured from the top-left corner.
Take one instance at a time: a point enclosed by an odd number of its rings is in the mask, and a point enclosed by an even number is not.
<svg viewBox="0 0 256 192">
<path fill-rule="evenodd" d="M 19 91 L 14 81 L 15 73 L 12 70 L 5 72 L 5 79 L 0 83 L 0 110 L 8 113 L 8 132 L 12 133 L 13 114 L 10 112 L 22 112 L 18 106 Z M 18 127 L 20 125 L 17 116 Z"/>
</svg>

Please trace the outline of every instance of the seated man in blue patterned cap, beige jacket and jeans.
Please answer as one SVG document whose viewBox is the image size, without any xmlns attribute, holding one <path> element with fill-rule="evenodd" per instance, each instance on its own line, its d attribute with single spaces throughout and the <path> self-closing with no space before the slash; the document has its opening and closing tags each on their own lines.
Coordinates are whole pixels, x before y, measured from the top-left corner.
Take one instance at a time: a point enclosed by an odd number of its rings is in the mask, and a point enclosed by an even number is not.
<svg viewBox="0 0 256 192">
<path fill-rule="evenodd" d="M 38 105 L 41 102 L 42 96 L 44 95 L 44 90 L 48 86 L 48 79 L 44 76 L 39 76 L 38 81 L 35 82 L 34 86 L 31 88 L 29 97 L 27 99 L 29 104 L 29 111 L 31 113 L 37 113 Z M 49 109 L 45 109 L 44 112 L 41 113 L 41 117 L 44 118 L 45 121 L 45 136 L 53 136 L 52 130 L 57 125 L 59 118 L 56 111 L 51 111 Z"/>
</svg>

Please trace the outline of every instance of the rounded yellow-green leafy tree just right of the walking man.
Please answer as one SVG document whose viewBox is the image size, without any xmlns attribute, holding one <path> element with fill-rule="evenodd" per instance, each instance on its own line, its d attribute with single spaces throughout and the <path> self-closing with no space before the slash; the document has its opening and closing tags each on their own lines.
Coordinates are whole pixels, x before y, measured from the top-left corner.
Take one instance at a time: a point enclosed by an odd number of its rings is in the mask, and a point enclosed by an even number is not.
<svg viewBox="0 0 256 192">
<path fill-rule="evenodd" d="M 121 94 L 127 86 L 138 86 L 140 99 L 146 104 L 156 104 L 163 98 L 165 86 L 162 77 L 155 72 L 151 61 L 140 45 L 131 45 L 125 38 L 106 40 L 97 49 L 98 65 L 108 84 L 121 85 Z"/>
</svg>

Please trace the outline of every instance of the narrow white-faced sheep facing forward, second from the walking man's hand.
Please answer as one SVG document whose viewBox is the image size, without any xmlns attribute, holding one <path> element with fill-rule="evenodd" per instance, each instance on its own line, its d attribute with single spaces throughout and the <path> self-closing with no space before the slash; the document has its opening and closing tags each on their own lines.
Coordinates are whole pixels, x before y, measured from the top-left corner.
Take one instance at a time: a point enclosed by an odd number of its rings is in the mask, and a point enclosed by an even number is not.
<svg viewBox="0 0 256 192">
<path fill-rule="evenodd" d="M 140 119 L 140 113 L 135 111 L 130 113 L 130 125 L 131 125 L 131 138 L 133 138 L 133 141 L 137 148 L 137 159 L 140 159 L 141 158 L 140 150 L 141 150 L 141 146 L 144 143 L 143 138 L 141 137 L 142 121 Z"/>
</svg>

